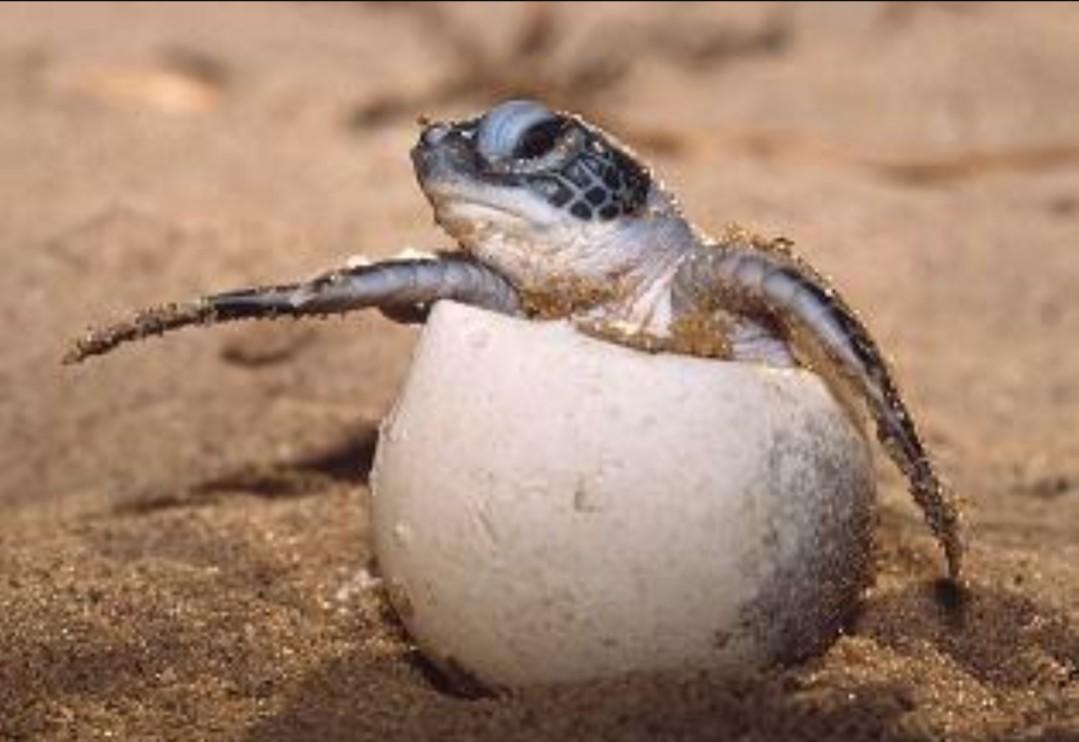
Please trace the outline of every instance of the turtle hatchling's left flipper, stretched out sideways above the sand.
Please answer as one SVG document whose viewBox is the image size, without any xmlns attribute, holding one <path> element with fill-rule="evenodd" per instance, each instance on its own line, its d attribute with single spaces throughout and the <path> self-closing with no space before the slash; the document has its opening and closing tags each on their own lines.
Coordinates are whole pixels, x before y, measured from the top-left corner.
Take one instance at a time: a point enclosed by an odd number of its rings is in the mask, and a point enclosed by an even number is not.
<svg viewBox="0 0 1079 742">
<path fill-rule="evenodd" d="M 76 341 L 64 362 L 78 363 L 122 343 L 182 327 L 237 319 L 327 316 L 375 307 L 391 319 L 416 321 L 439 299 L 520 313 L 517 290 L 486 265 L 455 257 L 392 260 L 332 271 L 301 284 L 240 289 L 142 310 L 127 321 L 91 330 Z"/>
</svg>

